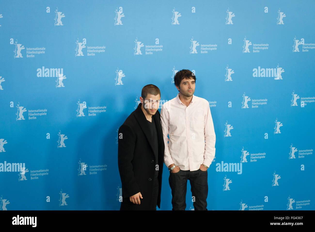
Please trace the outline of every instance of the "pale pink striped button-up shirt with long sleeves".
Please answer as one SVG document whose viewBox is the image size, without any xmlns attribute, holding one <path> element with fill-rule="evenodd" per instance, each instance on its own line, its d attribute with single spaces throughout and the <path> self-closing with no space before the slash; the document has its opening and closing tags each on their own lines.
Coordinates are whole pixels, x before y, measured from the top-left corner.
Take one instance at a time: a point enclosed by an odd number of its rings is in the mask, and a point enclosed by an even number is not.
<svg viewBox="0 0 315 232">
<path fill-rule="evenodd" d="M 186 106 L 178 96 L 165 102 L 161 109 L 164 163 L 191 171 L 198 170 L 201 164 L 209 167 L 215 157 L 215 130 L 209 102 L 192 95 Z"/>
</svg>

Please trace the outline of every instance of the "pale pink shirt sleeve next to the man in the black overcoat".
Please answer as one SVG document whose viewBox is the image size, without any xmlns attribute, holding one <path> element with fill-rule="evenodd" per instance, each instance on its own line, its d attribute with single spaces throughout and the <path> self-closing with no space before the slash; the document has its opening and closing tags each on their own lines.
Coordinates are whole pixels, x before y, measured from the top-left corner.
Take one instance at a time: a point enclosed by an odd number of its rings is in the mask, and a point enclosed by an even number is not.
<svg viewBox="0 0 315 232">
<path fill-rule="evenodd" d="M 161 125 L 163 130 L 163 139 L 164 139 L 164 163 L 168 167 L 171 164 L 174 164 L 172 156 L 169 152 L 169 138 L 167 135 L 169 134 L 169 112 L 165 108 L 165 103 L 162 105 L 161 109 Z"/>
</svg>

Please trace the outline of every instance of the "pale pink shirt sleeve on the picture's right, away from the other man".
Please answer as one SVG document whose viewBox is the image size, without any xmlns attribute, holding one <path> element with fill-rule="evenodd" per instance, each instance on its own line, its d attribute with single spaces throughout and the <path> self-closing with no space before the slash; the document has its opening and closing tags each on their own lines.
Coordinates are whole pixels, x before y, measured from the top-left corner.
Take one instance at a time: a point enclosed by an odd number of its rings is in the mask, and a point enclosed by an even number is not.
<svg viewBox="0 0 315 232">
<path fill-rule="evenodd" d="M 215 158 L 215 128 L 213 125 L 210 106 L 208 102 L 207 105 L 208 109 L 204 121 L 205 148 L 203 164 L 206 165 L 207 167 L 210 167 L 212 160 Z"/>
</svg>

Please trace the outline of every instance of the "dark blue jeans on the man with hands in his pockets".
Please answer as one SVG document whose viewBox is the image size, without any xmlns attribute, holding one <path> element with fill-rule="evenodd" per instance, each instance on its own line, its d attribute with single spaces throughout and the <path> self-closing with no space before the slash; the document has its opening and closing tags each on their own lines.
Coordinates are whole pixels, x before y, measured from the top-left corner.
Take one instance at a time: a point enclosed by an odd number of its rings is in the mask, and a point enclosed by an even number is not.
<svg viewBox="0 0 315 232">
<path fill-rule="evenodd" d="M 169 173 L 169 186 L 172 189 L 172 210 L 186 209 L 187 180 L 190 182 L 192 196 L 194 197 L 192 198 L 194 199 L 194 210 L 207 210 L 208 171 L 200 169 Z"/>
</svg>

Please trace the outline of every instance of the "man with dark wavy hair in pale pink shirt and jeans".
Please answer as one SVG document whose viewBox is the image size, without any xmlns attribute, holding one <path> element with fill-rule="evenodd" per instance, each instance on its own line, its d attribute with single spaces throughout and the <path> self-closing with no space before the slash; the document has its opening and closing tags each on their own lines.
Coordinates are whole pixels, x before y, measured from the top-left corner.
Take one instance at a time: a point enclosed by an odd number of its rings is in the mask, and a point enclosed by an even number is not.
<svg viewBox="0 0 315 232">
<path fill-rule="evenodd" d="M 215 157 L 215 131 L 209 102 L 194 95 L 196 76 L 190 70 L 177 72 L 174 81 L 179 93 L 161 109 L 164 163 L 170 171 L 173 210 L 186 209 L 187 180 L 194 210 L 207 210 L 207 169 Z"/>
</svg>

